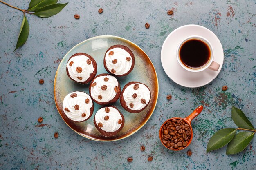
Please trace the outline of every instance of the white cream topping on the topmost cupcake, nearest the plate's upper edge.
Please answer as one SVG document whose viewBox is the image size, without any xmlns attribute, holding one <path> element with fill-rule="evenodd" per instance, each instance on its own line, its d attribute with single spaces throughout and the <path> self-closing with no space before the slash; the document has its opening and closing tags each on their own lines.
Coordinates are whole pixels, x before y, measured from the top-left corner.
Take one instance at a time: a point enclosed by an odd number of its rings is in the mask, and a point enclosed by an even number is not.
<svg viewBox="0 0 256 170">
<path fill-rule="evenodd" d="M 109 55 L 110 51 L 113 51 L 114 54 Z M 130 57 L 130 61 L 127 61 L 126 57 Z M 114 59 L 117 59 L 116 64 L 113 63 Z M 115 75 L 123 75 L 130 71 L 132 66 L 132 57 L 126 50 L 122 48 L 114 48 L 106 53 L 105 62 L 109 71 L 114 69 L 116 71 Z"/>
</svg>

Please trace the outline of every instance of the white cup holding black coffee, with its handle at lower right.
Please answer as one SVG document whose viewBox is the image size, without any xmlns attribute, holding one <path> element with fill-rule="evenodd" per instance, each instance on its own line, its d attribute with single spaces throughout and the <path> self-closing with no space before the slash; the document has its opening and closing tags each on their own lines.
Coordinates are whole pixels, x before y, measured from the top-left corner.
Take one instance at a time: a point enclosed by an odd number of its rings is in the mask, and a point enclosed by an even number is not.
<svg viewBox="0 0 256 170">
<path fill-rule="evenodd" d="M 211 55 L 209 57 L 209 60 L 203 66 L 200 66 L 200 67 L 197 67 L 197 68 L 192 68 L 192 67 L 184 65 L 182 63 L 181 59 L 180 59 L 180 48 L 181 48 L 182 44 L 184 44 L 185 42 L 187 42 L 188 40 L 191 40 L 191 39 L 197 39 L 197 40 L 203 41 L 205 44 L 207 44 L 209 46 L 210 51 L 211 51 Z M 192 36 L 189 36 L 189 37 L 185 38 L 184 40 L 182 40 L 180 42 L 179 46 L 177 47 L 176 55 L 177 55 L 177 60 L 178 60 L 179 64 L 184 69 L 186 69 L 187 71 L 199 72 L 199 71 L 203 71 L 203 70 L 205 70 L 207 68 L 209 68 L 209 69 L 211 69 L 213 71 L 218 71 L 218 69 L 220 68 L 220 64 L 218 64 L 217 62 L 213 61 L 214 51 L 213 51 L 213 47 L 212 47 L 211 43 L 206 38 L 203 38 L 203 37 L 198 36 L 198 35 L 192 35 Z"/>
</svg>

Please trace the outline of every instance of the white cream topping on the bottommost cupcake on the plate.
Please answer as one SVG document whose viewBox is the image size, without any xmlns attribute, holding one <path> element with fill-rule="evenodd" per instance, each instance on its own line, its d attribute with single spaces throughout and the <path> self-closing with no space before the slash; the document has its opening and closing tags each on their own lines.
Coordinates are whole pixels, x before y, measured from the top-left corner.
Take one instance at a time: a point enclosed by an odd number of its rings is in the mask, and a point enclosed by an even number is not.
<svg viewBox="0 0 256 170">
<path fill-rule="evenodd" d="M 118 124 L 118 120 L 121 119 L 122 117 L 119 113 L 119 111 L 116 108 L 113 107 L 108 107 L 109 108 L 109 113 L 106 113 L 105 108 L 101 108 L 100 110 L 97 111 L 95 114 L 95 121 L 96 124 L 102 123 L 102 130 L 106 132 L 115 132 L 121 127 L 121 124 Z M 109 119 L 105 120 L 104 117 L 108 116 Z M 122 120 L 123 123 L 123 120 Z"/>
</svg>

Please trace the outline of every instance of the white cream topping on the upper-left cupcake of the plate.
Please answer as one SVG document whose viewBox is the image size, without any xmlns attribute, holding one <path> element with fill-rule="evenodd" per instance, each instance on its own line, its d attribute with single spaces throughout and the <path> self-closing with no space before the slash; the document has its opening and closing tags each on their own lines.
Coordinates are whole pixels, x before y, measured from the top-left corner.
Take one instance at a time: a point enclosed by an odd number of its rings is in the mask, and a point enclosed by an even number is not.
<svg viewBox="0 0 256 170">
<path fill-rule="evenodd" d="M 90 75 L 92 74 L 92 72 L 94 71 L 94 67 L 91 61 L 91 64 L 87 64 L 87 60 L 89 58 L 85 55 L 77 55 L 75 57 L 70 58 L 70 60 L 68 60 L 67 62 L 67 71 L 70 75 L 70 77 L 72 79 L 74 79 L 76 82 L 84 82 L 86 81 Z M 71 66 L 70 66 L 70 62 L 74 62 Z M 81 67 L 82 68 L 82 72 L 78 73 L 76 71 L 77 67 Z M 78 79 L 77 77 L 81 77 L 82 79 Z"/>
</svg>

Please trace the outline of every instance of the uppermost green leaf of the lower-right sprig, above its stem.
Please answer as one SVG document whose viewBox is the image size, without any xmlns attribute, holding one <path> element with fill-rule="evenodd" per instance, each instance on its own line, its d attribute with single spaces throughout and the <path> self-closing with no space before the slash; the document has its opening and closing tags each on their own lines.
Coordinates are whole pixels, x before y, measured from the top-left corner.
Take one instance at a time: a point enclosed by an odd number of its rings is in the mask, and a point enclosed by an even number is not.
<svg viewBox="0 0 256 170">
<path fill-rule="evenodd" d="M 235 108 L 234 106 L 232 106 L 231 116 L 236 126 L 238 126 L 238 128 L 245 128 L 245 129 L 252 129 L 252 130 L 254 129 L 254 127 L 252 126 L 252 123 L 247 119 L 243 111 L 240 110 L 239 108 Z"/>
</svg>

